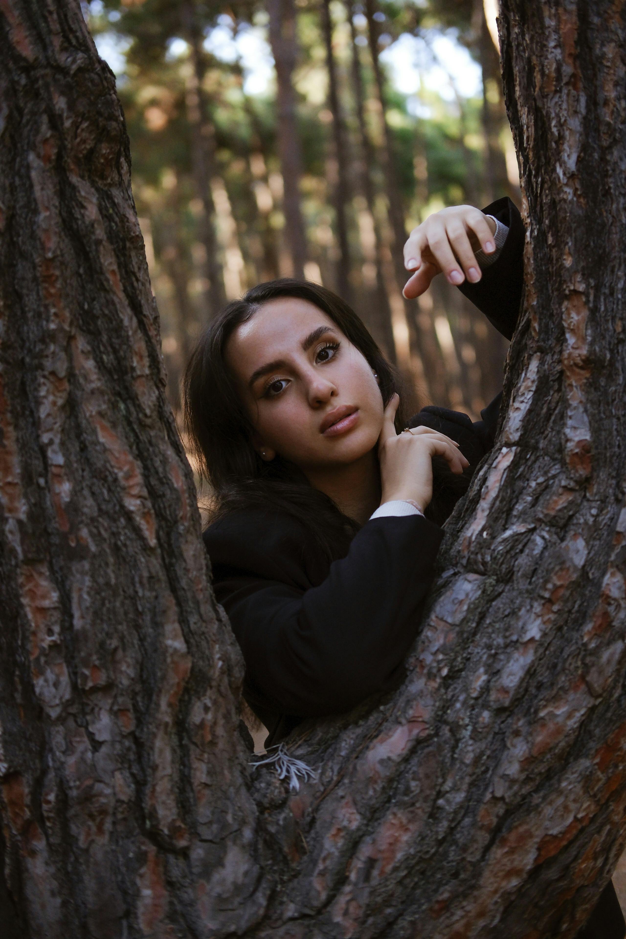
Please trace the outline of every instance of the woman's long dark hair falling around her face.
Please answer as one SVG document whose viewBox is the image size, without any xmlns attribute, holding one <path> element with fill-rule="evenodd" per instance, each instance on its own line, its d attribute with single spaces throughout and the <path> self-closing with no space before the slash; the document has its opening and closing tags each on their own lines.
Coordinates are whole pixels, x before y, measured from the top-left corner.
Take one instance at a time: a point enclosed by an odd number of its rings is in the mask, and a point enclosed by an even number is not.
<svg viewBox="0 0 626 939">
<path fill-rule="evenodd" d="M 252 423 L 224 362 L 226 344 L 237 327 L 268 300 L 278 297 L 308 300 L 336 323 L 377 374 L 384 405 L 399 391 L 395 371 L 359 316 L 341 297 L 309 282 L 290 278 L 268 281 L 252 287 L 241 300 L 229 303 L 201 334 L 191 354 L 183 388 L 191 450 L 201 477 L 215 496 L 212 521 L 240 509 L 287 512 L 312 531 L 328 560 L 333 560 L 344 556 L 359 525 L 344 516 L 328 496 L 314 489 L 294 464 L 280 455 L 266 462 L 256 453 Z M 404 425 L 399 408 L 396 429 L 400 431 Z"/>
</svg>

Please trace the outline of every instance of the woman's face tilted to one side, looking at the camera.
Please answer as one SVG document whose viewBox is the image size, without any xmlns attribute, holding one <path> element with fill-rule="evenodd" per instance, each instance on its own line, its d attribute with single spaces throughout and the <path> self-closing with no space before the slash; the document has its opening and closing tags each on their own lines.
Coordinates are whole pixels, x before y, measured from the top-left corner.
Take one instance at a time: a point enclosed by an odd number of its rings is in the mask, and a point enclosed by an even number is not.
<svg viewBox="0 0 626 939">
<path fill-rule="evenodd" d="M 373 370 L 309 300 L 264 303 L 229 339 L 226 363 L 264 459 L 280 454 L 307 472 L 353 463 L 375 446 L 383 400 Z"/>
</svg>

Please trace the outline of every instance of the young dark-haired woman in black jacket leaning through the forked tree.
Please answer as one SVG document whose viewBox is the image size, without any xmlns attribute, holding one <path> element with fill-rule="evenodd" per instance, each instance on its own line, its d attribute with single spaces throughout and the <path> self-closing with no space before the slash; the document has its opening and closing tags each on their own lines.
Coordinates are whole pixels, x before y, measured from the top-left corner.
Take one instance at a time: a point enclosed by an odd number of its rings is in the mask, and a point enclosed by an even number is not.
<svg viewBox="0 0 626 939">
<path fill-rule="evenodd" d="M 444 209 L 406 242 L 405 296 L 443 271 L 511 339 L 524 238 L 508 199 Z M 359 317 L 313 284 L 256 286 L 201 336 L 185 406 L 216 499 L 205 543 L 267 747 L 402 682 L 440 524 L 494 444 L 499 399 L 480 422 L 429 407 L 405 425 Z M 579 939 L 624 932 L 609 885 Z"/>
</svg>

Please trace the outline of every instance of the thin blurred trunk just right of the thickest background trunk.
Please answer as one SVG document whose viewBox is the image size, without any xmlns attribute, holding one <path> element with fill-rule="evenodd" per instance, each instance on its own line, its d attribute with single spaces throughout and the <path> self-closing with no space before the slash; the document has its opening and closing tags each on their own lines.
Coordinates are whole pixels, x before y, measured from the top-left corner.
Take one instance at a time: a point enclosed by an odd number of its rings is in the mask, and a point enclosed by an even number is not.
<svg viewBox="0 0 626 939">
<path fill-rule="evenodd" d="M 337 67 L 332 49 L 332 19 L 330 17 L 330 0 L 322 3 L 322 28 L 326 43 L 326 61 L 328 68 L 328 106 L 332 114 L 332 137 L 334 144 L 334 157 L 337 166 L 337 178 L 333 192 L 335 220 L 337 225 L 337 241 L 339 243 L 339 260 L 337 262 L 337 291 L 344 300 L 352 303 L 352 286 L 350 285 L 350 245 L 348 242 L 348 225 L 346 207 L 350 202 L 350 183 L 348 181 L 348 155 L 345 146 L 344 111 L 339 99 L 339 84 L 337 81 Z"/>
</svg>

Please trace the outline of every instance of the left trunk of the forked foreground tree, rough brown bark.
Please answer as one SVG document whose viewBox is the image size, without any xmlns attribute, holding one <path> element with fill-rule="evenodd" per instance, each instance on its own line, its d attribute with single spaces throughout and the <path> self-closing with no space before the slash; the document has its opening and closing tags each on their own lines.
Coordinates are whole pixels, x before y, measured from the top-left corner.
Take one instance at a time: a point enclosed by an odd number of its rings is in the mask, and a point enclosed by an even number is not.
<svg viewBox="0 0 626 939">
<path fill-rule="evenodd" d="M 190 935 L 213 906 L 241 922 L 259 881 L 240 659 L 163 393 L 114 76 L 77 2 L 0 9 L 4 876 L 23 936 Z"/>
</svg>

